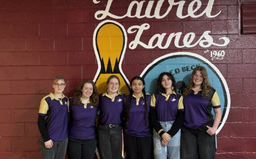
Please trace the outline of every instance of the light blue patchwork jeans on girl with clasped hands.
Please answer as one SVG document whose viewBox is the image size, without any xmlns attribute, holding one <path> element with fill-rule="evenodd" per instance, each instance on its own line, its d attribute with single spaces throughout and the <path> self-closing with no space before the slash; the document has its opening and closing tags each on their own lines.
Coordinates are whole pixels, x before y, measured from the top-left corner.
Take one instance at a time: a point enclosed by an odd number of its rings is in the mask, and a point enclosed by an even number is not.
<svg viewBox="0 0 256 159">
<path fill-rule="evenodd" d="M 164 132 L 168 132 L 174 121 L 159 121 Z M 154 159 L 180 159 L 181 129 L 171 138 L 167 146 L 162 146 L 162 137 L 153 131 Z"/>
</svg>

